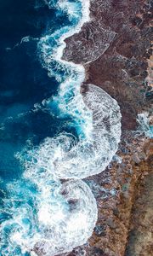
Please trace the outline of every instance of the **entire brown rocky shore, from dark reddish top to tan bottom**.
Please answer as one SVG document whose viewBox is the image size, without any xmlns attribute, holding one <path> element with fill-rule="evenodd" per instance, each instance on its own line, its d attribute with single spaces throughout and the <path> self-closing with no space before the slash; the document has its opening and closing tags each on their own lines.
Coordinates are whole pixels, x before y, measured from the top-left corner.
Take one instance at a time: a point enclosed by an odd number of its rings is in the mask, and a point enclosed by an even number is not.
<svg viewBox="0 0 153 256">
<path fill-rule="evenodd" d="M 153 140 L 146 130 L 153 124 L 153 1 L 91 0 L 90 11 L 91 22 L 65 40 L 64 58 L 86 68 L 82 95 L 96 84 L 119 103 L 122 142 L 105 172 L 87 179 L 99 219 L 88 243 L 69 256 L 151 256 Z"/>
</svg>

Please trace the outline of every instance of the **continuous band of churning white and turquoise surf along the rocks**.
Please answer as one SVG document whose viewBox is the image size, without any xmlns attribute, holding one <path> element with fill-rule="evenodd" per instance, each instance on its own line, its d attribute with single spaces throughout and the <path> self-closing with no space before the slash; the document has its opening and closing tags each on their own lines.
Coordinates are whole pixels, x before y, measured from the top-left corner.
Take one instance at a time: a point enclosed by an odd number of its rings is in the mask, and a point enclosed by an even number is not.
<svg viewBox="0 0 153 256">
<path fill-rule="evenodd" d="M 88 84 L 82 95 L 84 67 L 62 59 L 65 38 L 90 20 L 89 0 L 45 3 L 59 15 L 65 13 L 72 26 L 60 27 L 51 34 L 48 31 L 39 39 L 37 54 L 42 67 L 59 82 L 59 90 L 35 108 L 59 119 L 71 117 L 77 136 L 57 132 L 39 146 L 28 145 L 16 154 L 25 171 L 20 181 L 8 183 L 8 195 L 3 199 L 0 214 L 7 216 L 0 225 L 3 256 L 54 256 L 88 241 L 98 209 L 82 178 L 105 170 L 121 137 L 117 102 L 94 84 Z"/>
</svg>

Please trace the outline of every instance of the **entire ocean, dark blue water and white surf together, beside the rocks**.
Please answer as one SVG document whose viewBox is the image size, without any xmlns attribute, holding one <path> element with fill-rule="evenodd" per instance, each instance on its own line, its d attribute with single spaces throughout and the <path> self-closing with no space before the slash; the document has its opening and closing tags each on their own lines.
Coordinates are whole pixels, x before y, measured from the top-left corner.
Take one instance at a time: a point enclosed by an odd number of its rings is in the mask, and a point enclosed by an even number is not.
<svg viewBox="0 0 153 256">
<path fill-rule="evenodd" d="M 117 102 L 93 84 L 83 98 L 84 67 L 62 59 L 89 1 L 9 0 L 0 12 L 0 255 L 71 252 L 98 215 L 82 178 L 105 170 L 121 137 Z"/>
</svg>

